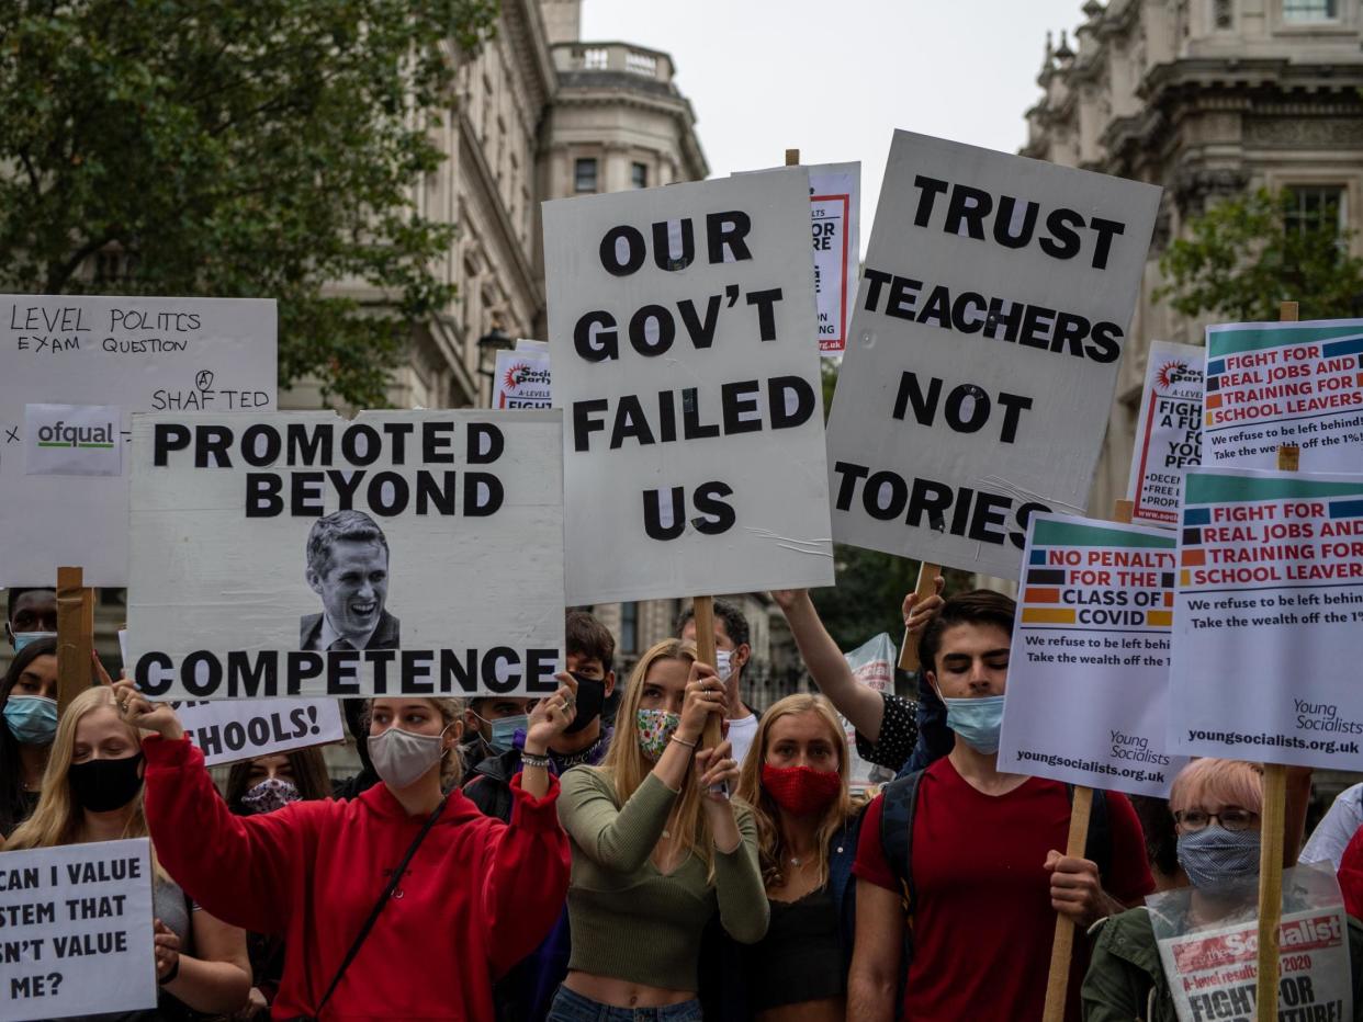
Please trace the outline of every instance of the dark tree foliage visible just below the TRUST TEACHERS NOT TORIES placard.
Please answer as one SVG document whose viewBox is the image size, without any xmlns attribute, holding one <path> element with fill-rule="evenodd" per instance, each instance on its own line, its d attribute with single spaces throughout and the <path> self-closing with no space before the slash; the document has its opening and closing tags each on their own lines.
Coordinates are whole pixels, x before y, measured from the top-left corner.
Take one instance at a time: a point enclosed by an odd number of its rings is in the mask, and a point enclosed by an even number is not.
<svg viewBox="0 0 1363 1022">
<path fill-rule="evenodd" d="M 833 403 L 840 360 L 822 358 L 823 409 Z M 838 585 L 810 593 L 829 635 L 841 650 L 853 650 L 867 639 L 889 632 L 895 647 L 904 639 L 904 616 L 900 610 L 906 593 L 919 582 L 919 561 L 893 553 L 866 551 L 860 546 L 833 545 Z M 975 589 L 973 576 L 945 568 L 946 595 Z"/>
</svg>

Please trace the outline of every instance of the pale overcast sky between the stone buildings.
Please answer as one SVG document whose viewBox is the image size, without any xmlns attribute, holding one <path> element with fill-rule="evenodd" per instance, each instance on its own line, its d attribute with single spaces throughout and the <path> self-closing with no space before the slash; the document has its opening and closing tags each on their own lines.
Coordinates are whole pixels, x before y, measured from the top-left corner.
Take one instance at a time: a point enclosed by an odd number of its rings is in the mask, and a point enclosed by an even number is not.
<svg viewBox="0 0 1363 1022">
<path fill-rule="evenodd" d="M 585 41 L 672 55 L 711 177 L 861 161 L 861 245 L 894 128 L 1015 153 L 1045 33 L 1081 0 L 583 0 Z"/>
</svg>

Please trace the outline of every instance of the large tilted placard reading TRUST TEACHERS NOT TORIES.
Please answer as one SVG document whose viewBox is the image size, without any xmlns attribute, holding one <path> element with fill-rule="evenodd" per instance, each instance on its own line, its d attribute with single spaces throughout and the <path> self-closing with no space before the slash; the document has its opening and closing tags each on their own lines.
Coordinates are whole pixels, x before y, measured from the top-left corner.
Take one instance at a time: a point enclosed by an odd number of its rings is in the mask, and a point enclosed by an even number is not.
<svg viewBox="0 0 1363 1022">
<path fill-rule="evenodd" d="M 1160 189 L 895 132 L 829 418 L 833 538 L 1018 576 L 1082 512 Z"/>
</svg>

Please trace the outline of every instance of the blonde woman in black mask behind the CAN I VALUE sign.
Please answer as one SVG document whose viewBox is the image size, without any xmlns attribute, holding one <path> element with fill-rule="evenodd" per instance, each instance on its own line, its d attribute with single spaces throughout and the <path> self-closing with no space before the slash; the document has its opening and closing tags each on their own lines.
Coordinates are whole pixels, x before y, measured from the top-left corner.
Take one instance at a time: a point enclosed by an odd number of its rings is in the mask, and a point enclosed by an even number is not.
<svg viewBox="0 0 1363 1022">
<path fill-rule="evenodd" d="M 89 688 L 72 699 L 57 724 L 38 807 L 5 850 L 146 837 L 140 745 L 138 729 L 120 718 L 112 690 Z M 203 858 L 215 861 L 211 854 Z M 165 865 L 154 858 L 157 1008 L 120 1019 L 237 1011 L 251 989 L 245 933 L 189 902 Z"/>
</svg>

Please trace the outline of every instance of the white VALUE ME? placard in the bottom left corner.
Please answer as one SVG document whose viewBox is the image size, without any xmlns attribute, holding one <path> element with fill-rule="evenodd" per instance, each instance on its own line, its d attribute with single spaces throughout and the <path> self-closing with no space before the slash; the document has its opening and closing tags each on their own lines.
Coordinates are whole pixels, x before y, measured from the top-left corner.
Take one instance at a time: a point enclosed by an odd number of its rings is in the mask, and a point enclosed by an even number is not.
<svg viewBox="0 0 1363 1022">
<path fill-rule="evenodd" d="M 146 838 L 0 852 L 0 1018 L 157 1006 Z"/>
</svg>

